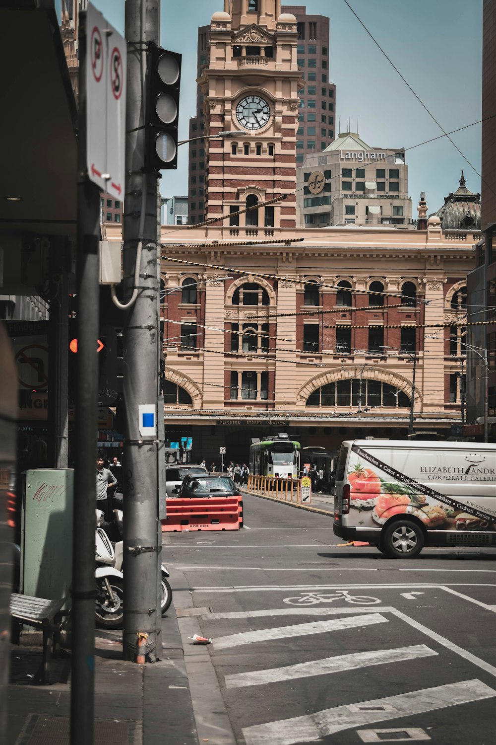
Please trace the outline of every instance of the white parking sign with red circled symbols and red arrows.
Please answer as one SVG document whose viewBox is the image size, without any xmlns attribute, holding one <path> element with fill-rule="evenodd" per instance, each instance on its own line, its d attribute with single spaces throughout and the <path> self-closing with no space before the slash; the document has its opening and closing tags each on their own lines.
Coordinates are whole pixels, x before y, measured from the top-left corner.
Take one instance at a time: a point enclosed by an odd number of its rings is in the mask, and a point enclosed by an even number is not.
<svg viewBox="0 0 496 745">
<path fill-rule="evenodd" d="M 88 178 L 123 199 L 126 145 L 126 39 L 88 3 L 86 16 Z"/>
</svg>

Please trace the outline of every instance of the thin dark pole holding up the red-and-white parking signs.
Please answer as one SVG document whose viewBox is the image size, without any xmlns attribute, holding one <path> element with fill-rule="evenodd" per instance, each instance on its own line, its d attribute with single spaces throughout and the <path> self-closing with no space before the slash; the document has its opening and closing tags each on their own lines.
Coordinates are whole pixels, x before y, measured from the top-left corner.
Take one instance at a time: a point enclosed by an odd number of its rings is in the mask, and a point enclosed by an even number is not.
<svg viewBox="0 0 496 745">
<path fill-rule="evenodd" d="M 71 745 L 92 745 L 94 718 L 94 531 L 100 295 L 100 189 L 86 171 L 86 13 L 80 19 L 77 165 L 77 400 L 72 554 Z"/>
</svg>

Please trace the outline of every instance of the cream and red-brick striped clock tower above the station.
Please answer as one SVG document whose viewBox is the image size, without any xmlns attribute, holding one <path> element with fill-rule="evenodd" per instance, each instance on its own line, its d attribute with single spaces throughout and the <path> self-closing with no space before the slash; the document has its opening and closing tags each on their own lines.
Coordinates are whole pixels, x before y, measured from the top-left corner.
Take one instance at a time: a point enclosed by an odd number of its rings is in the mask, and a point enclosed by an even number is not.
<svg viewBox="0 0 496 745">
<path fill-rule="evenodd" d="M 206 219 L 219 225 L 295 226 L 296 130 L 301 72 L 297 21 L 280 0 L 225 0 L 210 22 L 203 95 Z M 231 133 L 213 139 L 219 132 Z M 242 215 L 233 213 L 286 194 Z"/>
</svg>

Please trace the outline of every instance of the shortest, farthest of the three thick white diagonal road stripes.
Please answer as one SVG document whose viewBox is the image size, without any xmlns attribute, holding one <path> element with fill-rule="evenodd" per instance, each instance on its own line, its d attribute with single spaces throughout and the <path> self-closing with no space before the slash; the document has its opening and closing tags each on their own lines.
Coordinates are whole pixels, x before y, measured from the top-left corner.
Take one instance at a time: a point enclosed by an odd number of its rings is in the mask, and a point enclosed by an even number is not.
<svg viewBox="0 0 496 745">
<path fill-rule="evenodd" d="M 380 613 L 370 615 L 352 616 L 352 618 L 332 618 L 327 621 L 312 621 L 310 624 L 297 624 L 295 626 L 280 626 L 274 629 L 260 629 L 248 631 L 242 634 L 231 634 L 221 636 L 213 642 L 216 650 L 224 650 L 228 647 L 238 647 L 241 644 L 253 644 L 254 641 L 267 641 L 268 639 L 283 639 L 289 636 L 306 636 L 309 634 L 322 634 L 328 631 L 341 629 L 352 629 L 358 626 L 370 626 L 371 624 L 387 624 L 387 618 Z"/>
</svg>

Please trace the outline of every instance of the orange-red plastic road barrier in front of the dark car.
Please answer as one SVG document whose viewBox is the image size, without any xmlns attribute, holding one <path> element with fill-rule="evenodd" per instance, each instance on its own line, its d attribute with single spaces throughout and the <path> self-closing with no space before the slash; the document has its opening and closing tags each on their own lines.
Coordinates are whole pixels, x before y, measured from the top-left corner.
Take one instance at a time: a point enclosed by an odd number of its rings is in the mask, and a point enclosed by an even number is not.
<svg viewBox="0 0 496 745">
<path fill-rule="evenodd" d="M 241 497 L 199 497 L 166 500 L 162 532 L 182 530 L 239 530 L 243 527 Z"/>
</svg>

